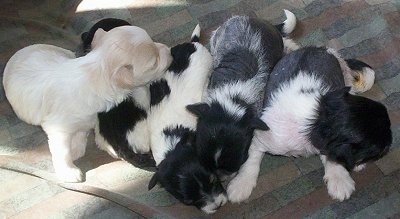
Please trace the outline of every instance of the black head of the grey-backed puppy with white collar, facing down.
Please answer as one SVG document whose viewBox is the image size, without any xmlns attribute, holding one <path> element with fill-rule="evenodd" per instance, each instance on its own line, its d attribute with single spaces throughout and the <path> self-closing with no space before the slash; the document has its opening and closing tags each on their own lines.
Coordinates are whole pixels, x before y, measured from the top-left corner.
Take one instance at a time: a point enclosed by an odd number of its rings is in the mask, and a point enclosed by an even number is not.
<svg viewBox="0 0 400 219">
<path fill-rule="evenodd" d="M 255 129 L 268 126 L 249 109 L 229 113 L 218 102 L 193 104 L 186 107 L 198 117 L 196 150 L 201 161 L 220 177 L 237 172 L 247 160 Z"/>
</svg>

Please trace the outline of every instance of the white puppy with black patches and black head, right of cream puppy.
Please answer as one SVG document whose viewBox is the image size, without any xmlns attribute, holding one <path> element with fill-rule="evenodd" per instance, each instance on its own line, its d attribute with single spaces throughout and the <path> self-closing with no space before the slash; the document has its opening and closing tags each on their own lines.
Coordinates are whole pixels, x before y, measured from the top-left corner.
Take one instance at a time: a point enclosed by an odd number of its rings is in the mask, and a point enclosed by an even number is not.
<svg viewBox="0 0 400 219">
<path fill-rule="evenodd" d="M 192 41 L 197 41 L 196 28 Z M 157 183 L 186 205 L 214 213 L 227 201 L 218 177 L 203 167 L 194 146 L 196 117 L 186 105 L 201 102 L 212 69 L 212 57 L 197 42 L 171 49 L 174 60 L 164 79 L 151 84 L 152 106 L 148 117 L 150 142 L 157 172 L 149 183 Z"/>
</svg>

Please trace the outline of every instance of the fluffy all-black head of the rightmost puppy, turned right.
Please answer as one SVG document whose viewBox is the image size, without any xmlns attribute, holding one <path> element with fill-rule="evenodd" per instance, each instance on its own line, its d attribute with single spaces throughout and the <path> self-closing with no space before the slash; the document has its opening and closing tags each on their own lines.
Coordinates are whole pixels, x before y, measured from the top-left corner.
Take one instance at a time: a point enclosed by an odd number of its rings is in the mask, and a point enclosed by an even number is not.
<svg viewBox="0 0 400 219">
<path fill-rule="evenodd" d="M 385 155 L 392 132 L 383 104 L 349 91 L 347 87 L 321 98 L 310 138 L 322 154 L 352 170 Z"/>
</svg>

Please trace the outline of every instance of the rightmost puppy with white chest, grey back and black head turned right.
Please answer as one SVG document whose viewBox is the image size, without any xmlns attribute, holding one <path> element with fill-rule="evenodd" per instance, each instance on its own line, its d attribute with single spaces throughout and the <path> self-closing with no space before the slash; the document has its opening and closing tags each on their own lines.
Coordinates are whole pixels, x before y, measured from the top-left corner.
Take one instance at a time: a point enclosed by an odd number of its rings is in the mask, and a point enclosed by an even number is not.
<svg viewBox="0 0 400 219">
<path fill-rule="evenodd" d="M 264 152 L 294 157 L 319 154 L 328 193 L 340 201 L 355 190 L 349 171 L 386 154 L 392 143 L 386 108 L 349 93 L 373 81 L 354 81 L 352 88 L 345 87 L 341 61 L 333 49 L 307 47 L 275 66 L 261 116 L 270 130 L 255 133 L 249 158 L 228 185 L 230 201 L 250 196 Z M 359 80 L 373 78 L 374 71 L 365 63 L 348 60 L 347 65 L 353 75 L 365 68 Z"/>
</svg>

